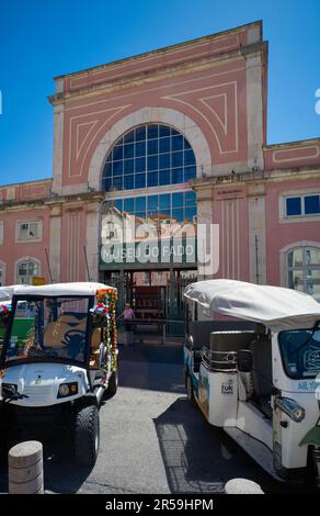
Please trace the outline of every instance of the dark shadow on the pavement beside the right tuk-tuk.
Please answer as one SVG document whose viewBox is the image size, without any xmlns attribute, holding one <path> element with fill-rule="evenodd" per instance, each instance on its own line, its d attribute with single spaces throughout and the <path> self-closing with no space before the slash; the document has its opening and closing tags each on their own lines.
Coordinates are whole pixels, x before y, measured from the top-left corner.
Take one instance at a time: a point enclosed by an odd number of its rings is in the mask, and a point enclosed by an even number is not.
<svg viewBox="0 0 320 516">
<path fill-rule="evenodd" d="M 265 493 L 306 493 L 304 484 L 286 484 L 266 474 L 222 430 L 209 425 L 185 397 L 155 419 L 172 493 L 222 493 L 228 480 L 258 482 Z"/>
</svg>

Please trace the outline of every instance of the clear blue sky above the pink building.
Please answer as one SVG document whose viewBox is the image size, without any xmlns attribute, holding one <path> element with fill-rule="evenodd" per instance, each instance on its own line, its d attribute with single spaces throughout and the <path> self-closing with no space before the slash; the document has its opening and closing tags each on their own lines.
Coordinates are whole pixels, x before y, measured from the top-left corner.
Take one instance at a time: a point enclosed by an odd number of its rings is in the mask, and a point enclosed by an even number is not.
<svg viewBox="0 0 320 516">
<path fill-rule="evenodd" d="M 319 0 L 0 0 L 0 184 L 53 175 L 53 77 L 263 20 L 267 143 L 320 136 Z"/>
</svg>

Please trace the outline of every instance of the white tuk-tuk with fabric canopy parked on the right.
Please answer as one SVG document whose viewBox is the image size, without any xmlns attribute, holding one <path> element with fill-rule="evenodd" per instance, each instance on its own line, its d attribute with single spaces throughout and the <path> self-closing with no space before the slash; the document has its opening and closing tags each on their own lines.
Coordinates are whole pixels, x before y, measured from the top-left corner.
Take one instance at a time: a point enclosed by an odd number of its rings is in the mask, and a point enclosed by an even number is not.
<svg viewBox="0 0 320 516">
<path fill-rule="evenodd" d="M 190 401 L 276 479 L 311 473 L 319 486 L 319 303 L 233 280 L 191 283 L 184 296 Z"/>
</svg>

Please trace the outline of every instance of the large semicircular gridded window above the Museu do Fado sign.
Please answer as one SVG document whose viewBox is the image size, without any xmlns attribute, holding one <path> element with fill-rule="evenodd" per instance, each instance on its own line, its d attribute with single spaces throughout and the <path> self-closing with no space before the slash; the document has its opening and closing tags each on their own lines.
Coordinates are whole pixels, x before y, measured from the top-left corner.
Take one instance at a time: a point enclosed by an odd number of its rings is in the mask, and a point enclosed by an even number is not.
<svg viewBox="0 0 320 516">
<path fill-rule="evenodd" d="M 138 125 L 127 132 L 106 157 L 105 191 L 185 183 L 196 177 L 194 152 L 173 127 Z"/>
</svg>

